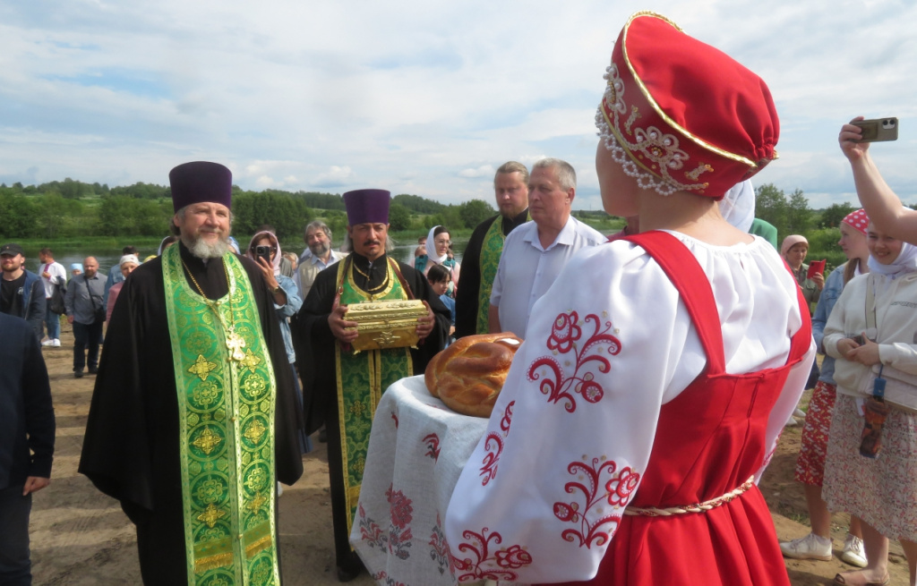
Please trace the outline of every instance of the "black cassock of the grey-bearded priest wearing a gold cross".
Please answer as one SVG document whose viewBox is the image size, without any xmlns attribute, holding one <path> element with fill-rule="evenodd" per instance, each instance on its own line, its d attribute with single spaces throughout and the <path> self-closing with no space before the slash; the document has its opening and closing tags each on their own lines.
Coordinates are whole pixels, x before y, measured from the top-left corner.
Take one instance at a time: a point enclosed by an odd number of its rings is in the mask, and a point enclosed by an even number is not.
<svg viewBox="0 0 917 586">
<path fill-rule="evenodd" d="M 219 259 L 206 265 L 184 244 L 182 261 L 210 299 L 228 291 Z M 302 414 L 293 395 L 280 322 L 260 269 L 241 258 L 258 305 L 274 364 L 277 479 L 303 474 L 297 440 Z M 193 284 L 189 283 L 196 290 Z M 161 258 L 138 266 L 118 295 L 95 381 L 79 471 L 120 501 L 137 526 L 140 572 L 146 584 L 187 584 L 179 461 L 179 414 L 165 307 Z M 277 536 L 275 536 L 276 539 Z M 278 556 L 280 543 L 277 543 Z"/>
</svg>

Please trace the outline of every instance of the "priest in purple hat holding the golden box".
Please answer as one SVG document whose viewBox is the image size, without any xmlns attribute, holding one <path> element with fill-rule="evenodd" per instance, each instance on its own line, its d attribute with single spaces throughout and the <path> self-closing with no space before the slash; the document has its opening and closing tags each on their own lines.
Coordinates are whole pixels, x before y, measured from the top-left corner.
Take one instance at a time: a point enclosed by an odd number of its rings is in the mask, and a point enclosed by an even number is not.
<svg viewBox="0 0 917 586">
<path fill-rule="evenodd" d="M 309 337 L 314 353 L 311 408 L 324 413 L 326 421 L 340 581 L 352 580 L 362 569 L 348 536 L 381 393 L 404 376 L 423 374 L 430 358 L 443 349 L 449 331 L 449 310 L 423 273 L 386 255 L 390 201 L 385 190 L 344 194 L 353 252 L 315 277 L 298 320 L 299 333 Z M 357 338 L 358 324 L 344 320 L 348 304 L 383 299 L 424 301 L 427 313 L 417 320 L 417 348 L 354 353 L 349 343 Z"/>
</svg>

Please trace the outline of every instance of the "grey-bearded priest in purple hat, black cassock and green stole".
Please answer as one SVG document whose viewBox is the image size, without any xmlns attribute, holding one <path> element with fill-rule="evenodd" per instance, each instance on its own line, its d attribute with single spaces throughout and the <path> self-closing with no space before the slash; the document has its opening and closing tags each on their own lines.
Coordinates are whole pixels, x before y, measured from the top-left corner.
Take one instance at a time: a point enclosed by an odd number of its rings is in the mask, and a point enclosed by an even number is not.
<svg viewBox="0 0 917 586">
<path fill-rule="evenodd" d="M 279 584 L 277 482 L 303 462 L 274 292 L 230 251 L 229 169 L 169 179 L 181 240 L 117 298 L 80 472 L 137 526 L 146 584 Z"/>
</svg>

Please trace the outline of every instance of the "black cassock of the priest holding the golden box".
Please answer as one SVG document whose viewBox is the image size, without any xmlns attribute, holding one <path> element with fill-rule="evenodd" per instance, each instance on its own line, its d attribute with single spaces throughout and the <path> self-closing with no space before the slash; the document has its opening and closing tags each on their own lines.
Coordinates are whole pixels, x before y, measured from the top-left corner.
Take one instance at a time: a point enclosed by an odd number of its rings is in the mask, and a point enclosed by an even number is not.
<svg viewBox="0 0 917 586">
<path fill-rule="evenodd" d="M 370 264 L 362 255 L 353 253 L 350 259 L 359 268 L 354 271 L 354 283 L 357 287 L 368 290 L 377 288 L 386 278 L 387 257 L 383 255 Z M 339 261 L 347 266 L 348 259 Z M 414 364 L 414 374 L 424 374 L 426 364 L 433 356 L 443 349 L 449 331 L 451 316 L 449 310 L 433 292 L 423 273 L 414 270 L 414 267 L 398 263 L 398 268 L 404 277 L 404 282 L 411 288 L 414 298 L 425 300 L 433 310 L 435 320 L 433 331 L 418 346 L 411 350 L 411 361 Z M 305 298 L 303 309 L 300 309 L 297 319 L 298 335 L 307 339 L 311 345 L 312 353 L 309 356 L 311 363 L 306 368 L 312 369 L 314 384 L 311 389 L 304 390 L 305 412 L 307 421 L 312 425 L 320 421 L 326 422 L 328 436 L 328 475 L 331 483 L 331 509 L 335 530 L 335 550 L 337 553 L 337 567 L 343 572 L 353 573 L 359 570 L 357 554 L 350 549 L 347 530 L 347 511 L 344 498 L 344 474 L 341 455 L 340 429 L 337 427 L 337 378 L 335 376 L 335 344 L 337 340 L 331 334 L 328 326 L 328 315 L 334 305 L 337 292 L 338 265 L 327 267 L 315 277 L 315 283 L 308 297 Z M 297 358 L 299 353 L 297 353 Z"/>
</svg>

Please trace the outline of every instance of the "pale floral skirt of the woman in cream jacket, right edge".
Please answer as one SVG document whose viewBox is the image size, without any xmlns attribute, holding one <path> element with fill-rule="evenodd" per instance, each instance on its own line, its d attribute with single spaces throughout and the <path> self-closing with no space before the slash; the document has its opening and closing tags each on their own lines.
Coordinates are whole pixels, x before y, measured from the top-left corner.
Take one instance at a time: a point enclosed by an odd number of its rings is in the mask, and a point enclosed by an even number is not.
<svg viewBox="0 0 917 586">
<path fill-rule="evenodd" d="M 917 541 L 917 417 L 891 409 L 878 458 L 859 455 L 863 416 L 838 395 L 825 461 L 823 498 L 892 539 Z"/>
</svg>

